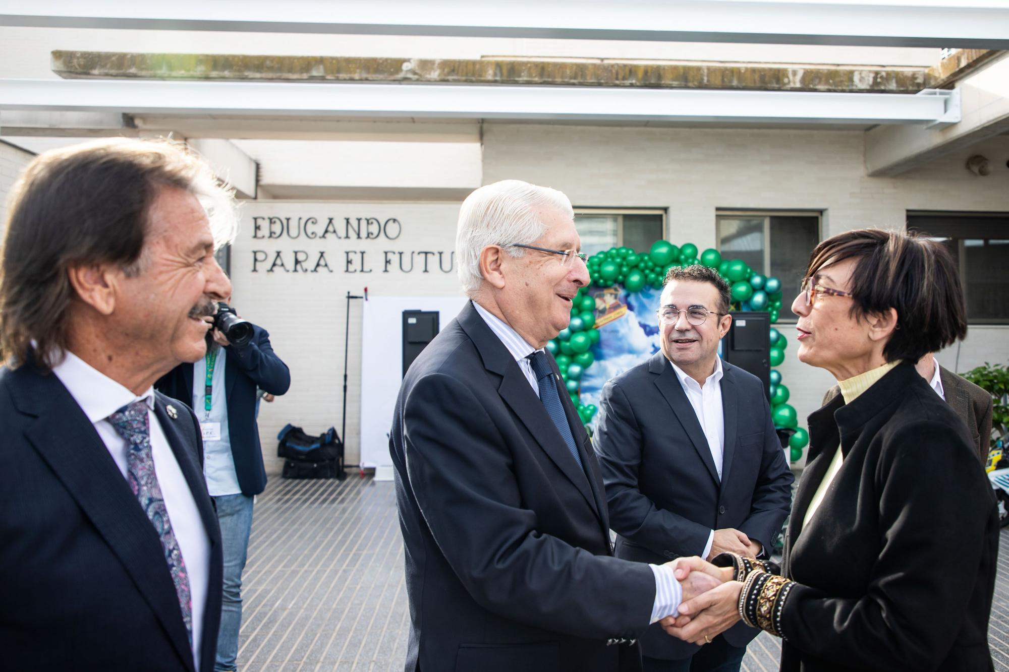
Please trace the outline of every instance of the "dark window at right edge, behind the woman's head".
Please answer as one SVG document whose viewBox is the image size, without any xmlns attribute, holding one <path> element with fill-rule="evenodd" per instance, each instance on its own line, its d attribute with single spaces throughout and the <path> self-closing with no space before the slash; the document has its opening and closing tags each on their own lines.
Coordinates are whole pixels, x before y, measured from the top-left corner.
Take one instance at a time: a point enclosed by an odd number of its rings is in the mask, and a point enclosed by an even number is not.
<svg viewBox="0 0 1009 672">
<path fill-rule="evenodd" d="M 907 230 L 952 253 L 969 322 L 1009 324 L 1009 213 L 908 212 Z"/>
</svg>

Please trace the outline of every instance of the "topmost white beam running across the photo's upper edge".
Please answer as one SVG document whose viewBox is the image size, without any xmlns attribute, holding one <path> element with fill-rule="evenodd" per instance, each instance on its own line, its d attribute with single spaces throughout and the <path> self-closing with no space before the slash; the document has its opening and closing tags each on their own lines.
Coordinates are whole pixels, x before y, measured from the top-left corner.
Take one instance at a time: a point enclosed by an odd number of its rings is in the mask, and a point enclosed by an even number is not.
<svg viewBox="0 0 1009 672">
<path fill-rule="evenodd" d="M 0 0 L 0 25 L 1009 48 L 999 0 Z"/>
</svg>

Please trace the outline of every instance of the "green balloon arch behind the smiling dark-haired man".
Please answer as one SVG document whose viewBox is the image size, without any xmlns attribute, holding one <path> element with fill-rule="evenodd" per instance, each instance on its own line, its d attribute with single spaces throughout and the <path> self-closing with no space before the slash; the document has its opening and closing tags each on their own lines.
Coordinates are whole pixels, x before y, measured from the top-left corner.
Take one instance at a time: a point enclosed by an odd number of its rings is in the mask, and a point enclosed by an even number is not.
<svg viewBox="0 0 1009 672">
<path fill-rule="evenodd" d="M 590 286 L 619 287 L 637 294 L 646 287 L 661 288 L 666 272 L 673 266 L 703 264 L 716 268 L 732 288 L 732 310 L 767 311 L 771 323 L 778 321 L 781 310 L 781 282 L 755 272 L 742 259 L 722 259 L 716 249 L 705 249 L 698 254 L 697 246 L 684 243 L 677 247 L 668 240 L 656 240 L 647 254 L 630 247 L 610 247 L 597 252 L 586 260 Z M 564 384 L 584 424 L 589 424 L 596 414 L 593 404 L 582 404 L 579 394 L 582 374 L 595 361 L 592 345 L 601 338 L 595 327 L 595 298 L 588 294 L 588 287 L 578 291 L 571 308 L 571 322 L 557 338 L 547 343 L 557 360 Z M 774 327 L 770 330 L 771 366 L 780 366 L 785 360 L 788 343 L 785 336 Z M 798 426 L 795 409 L 788 404 L 790 393 L 781 380 L 781 372 L 771 370 L 771 417 L 777 429 L 794 432 L 789 437 L 789 455 L 793 462 L 802 457 L 802 449 L 809 443 L 809 434 Z"/>
</svg>

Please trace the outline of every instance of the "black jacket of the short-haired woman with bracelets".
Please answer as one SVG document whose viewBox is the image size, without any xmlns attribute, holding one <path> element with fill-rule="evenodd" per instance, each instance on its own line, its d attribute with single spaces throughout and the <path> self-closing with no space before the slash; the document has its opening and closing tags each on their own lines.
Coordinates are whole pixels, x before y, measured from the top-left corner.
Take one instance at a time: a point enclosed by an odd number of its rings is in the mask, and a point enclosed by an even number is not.
<svg viewBox="0 0 1009 672">
<path fill-rule="evenodd" d="M 970 433 L 911 363 L 809 416 L 784 573 L 784 671 L 992 669 L 999 524 Z M 838 450 L 844 464 L 809 525 Z"/>
</svg>

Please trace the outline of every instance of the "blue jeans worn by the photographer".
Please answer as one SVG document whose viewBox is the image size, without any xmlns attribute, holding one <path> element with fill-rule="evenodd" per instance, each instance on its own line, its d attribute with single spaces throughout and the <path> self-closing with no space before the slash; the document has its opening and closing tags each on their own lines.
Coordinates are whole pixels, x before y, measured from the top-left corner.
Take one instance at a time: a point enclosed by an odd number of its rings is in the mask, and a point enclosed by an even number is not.
<svg viewBox="0 0 1009 672">
<path fill-rule="evenodd" d="M 217 636 L 214 672 L 238 669 L 238 629 L 242 625 L 242 570 L 252 529 L 252 497 L 239 492 L 214 497 L 224 554 L 221 631 Z"/>
</svg>

